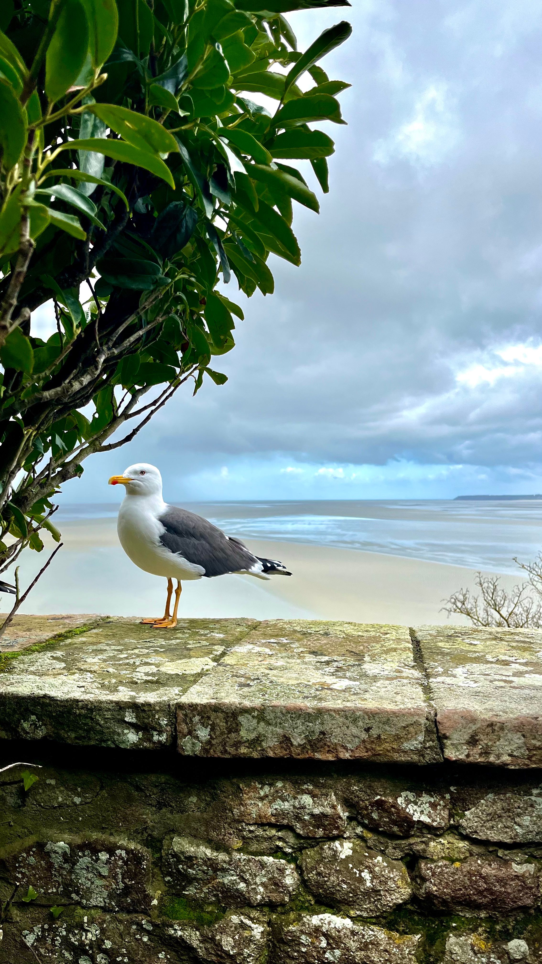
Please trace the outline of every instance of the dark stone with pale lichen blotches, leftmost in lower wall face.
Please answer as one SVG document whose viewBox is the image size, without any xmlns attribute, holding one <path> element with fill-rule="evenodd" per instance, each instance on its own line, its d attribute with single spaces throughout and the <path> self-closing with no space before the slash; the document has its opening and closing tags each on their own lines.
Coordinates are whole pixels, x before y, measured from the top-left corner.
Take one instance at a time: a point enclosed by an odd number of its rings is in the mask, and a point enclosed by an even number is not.
<svg viewBox="0 0 542 964">
<path fill-rule="evenodd" d="M 150 854 L 138 844 L 67 838 L 25 847 L 6 865 L 20 900 L 29 887 L 47 903 L 112 911 L 148 910 Z"/>
</svg>

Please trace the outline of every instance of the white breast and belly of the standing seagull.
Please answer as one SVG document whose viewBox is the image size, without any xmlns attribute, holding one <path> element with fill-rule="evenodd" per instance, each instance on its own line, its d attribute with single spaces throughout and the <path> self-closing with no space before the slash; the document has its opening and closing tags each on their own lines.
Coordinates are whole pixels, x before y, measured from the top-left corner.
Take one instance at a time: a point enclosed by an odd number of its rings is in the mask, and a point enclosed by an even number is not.
<svg viewBox="0 0 542 964">
<path fill-rule="evenodd" d="M 153 576 L 200 579 L 205 573 L 202 566 L 188 562 L 162 546 L 160 536 L 165 529 L 157 516 L 166 511 L 167 505 L 161 499 L 160 502 L 155 505 L 153 498 L 124 496 L 117 520 L 122 549 L 136 566 Z"/>
</svg>

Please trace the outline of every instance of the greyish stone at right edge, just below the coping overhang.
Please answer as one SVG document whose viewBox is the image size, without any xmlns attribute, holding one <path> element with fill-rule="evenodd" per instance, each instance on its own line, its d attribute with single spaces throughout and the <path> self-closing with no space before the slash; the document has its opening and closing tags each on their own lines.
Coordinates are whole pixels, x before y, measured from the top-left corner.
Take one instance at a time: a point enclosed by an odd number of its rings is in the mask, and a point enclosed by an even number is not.
<svg viewBox="0 0 542 964">
<path fill-rule="evenodd" d="M 487 793 L 461 817 L 458 826 L 480 841 L 542 843 L 542 788 L 530 793 Z"/>
</svg>

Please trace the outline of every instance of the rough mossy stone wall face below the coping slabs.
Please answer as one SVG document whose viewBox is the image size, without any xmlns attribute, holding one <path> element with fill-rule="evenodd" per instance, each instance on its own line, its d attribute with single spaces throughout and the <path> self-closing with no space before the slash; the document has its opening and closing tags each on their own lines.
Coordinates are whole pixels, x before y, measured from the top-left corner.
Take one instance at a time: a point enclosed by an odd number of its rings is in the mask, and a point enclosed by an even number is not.
<svg viewBox="0 0 542 964">
<path fill-rule="evenodd" d="M 0 788 L 2 962 L 542 959 L 535 771 L 123 756 Z"/>
</svg>

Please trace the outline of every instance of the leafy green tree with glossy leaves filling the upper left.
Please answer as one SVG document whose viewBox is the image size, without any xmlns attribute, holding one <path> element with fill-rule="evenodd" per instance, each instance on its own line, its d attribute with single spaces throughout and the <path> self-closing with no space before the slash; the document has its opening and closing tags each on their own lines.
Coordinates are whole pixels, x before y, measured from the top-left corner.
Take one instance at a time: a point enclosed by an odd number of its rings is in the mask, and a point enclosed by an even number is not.
<svg viewBox="0 0 542 964">
<path fill-rule="evenodd" d="M 300 263 L 292 201 L 318 201 L 290 162 L 328 191 L 334 144 L 311 125 L 344 122 L 349 85 L 317 62 L 351 28 L 301 53 L 284 14 L 334 6 L 349 4 L 3 0 L 0 573 L 43 528 L 58 541 L 52 498 L 84 459 L 187 380 L 224 384 L 211 362 L 243 314 L 222 284 L 271 294 L 269 254 Z M 31 317 L 50 300 L 44 341 Z"/>
</svg>

